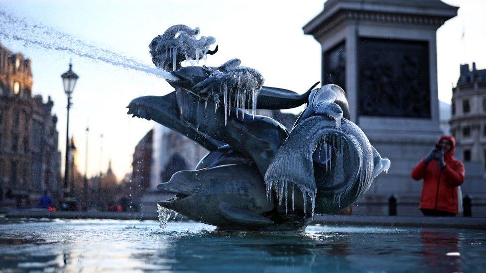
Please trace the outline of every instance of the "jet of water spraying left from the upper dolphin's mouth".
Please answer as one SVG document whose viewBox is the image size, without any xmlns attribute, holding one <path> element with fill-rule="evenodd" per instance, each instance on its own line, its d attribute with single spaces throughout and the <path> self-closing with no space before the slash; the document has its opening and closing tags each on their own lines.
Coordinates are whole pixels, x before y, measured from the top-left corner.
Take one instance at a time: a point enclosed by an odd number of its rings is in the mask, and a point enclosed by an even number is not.
<svg viewBox="0 0 486 273">
<path fill-rule="evenodd" d="M 40 23 L 17 17 L 5 10 L 0 10 L 0 37 L 6 40 L 21 41 L 25 46 L 30 45 L 67 52 L 93 61 L 145 72 L 167 80 L 179 80 L 167 71 L 149 67 L 120 53 L 100 48 Z"/>
</svg>

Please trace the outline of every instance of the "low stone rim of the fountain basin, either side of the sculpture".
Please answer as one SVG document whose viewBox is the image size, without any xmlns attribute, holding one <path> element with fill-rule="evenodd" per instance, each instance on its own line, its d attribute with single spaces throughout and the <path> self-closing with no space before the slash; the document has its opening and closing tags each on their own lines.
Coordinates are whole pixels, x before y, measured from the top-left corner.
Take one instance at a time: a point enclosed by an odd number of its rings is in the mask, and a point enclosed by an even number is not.
<svg viewBox="0 0 486 273">
<path fill-rule="evenodd" d="M 47 210 L 10 210 L 3 214 L 7 218 L 62 218 L 62 219 L 137 219 L 155 220 L 155 213 L 129 212 L 83 212 Z M 187 218 L 186 218 L 187 219 Z M 424 217 L 424 216 L 360 216 L 360 215 L 316 215 L 312 224 L 387 226 L 387 227 L 439 227 L 486 229 L 485 217 Z"/>
</svg>

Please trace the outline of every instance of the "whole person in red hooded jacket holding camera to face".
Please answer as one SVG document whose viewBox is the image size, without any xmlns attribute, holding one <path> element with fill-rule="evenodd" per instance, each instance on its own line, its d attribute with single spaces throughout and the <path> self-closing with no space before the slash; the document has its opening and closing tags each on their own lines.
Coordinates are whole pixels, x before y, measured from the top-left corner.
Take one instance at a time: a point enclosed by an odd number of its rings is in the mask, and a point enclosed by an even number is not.
<svg viewBox="0 0 486 273">
<path fill-rule="evenodd" d="M 454 158 L 456 140 L 442 136 L 435 148 L 412 170 L 414 180 L 424 180 L 420 209 L 424 215 L 457 214 L 457 187 L 464 182 L 464 165 Z"/>
</svg>

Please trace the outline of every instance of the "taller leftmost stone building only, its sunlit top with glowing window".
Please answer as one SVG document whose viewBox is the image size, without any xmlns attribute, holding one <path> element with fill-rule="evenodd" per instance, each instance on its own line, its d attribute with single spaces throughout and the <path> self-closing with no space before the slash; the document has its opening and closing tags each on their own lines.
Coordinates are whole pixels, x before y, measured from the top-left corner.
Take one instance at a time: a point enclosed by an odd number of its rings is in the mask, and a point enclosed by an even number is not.
<svg viewBox="0 0 486 273">
<path fill-rule="evenodd" d="M 31 190 L 31 89 L 30 60 L 0 46 L 0 177 L 17 201 L 28 200 Z"/>
</svg>

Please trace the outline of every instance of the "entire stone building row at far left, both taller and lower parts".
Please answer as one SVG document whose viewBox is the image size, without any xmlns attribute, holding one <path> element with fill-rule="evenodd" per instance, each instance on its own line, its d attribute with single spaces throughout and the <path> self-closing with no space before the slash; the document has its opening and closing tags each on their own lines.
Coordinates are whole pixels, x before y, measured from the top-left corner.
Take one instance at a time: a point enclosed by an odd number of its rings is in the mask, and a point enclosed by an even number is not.
<svg viewBox="0 0 486 273">
<path fill-rule="evenodd" d="M 30 64 L 0 45 L 0 197 L 22 207 L 60 177 L 57 117 L 50 98 L 32 97 Z"/>
</svg>

